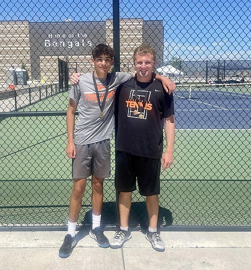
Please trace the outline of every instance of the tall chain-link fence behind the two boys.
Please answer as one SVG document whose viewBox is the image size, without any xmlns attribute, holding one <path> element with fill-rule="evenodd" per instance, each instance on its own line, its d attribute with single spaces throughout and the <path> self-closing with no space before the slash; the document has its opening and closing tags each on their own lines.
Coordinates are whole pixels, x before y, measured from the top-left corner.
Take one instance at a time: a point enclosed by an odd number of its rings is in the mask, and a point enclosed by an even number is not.
<svg viewBox="0 0 251 270">
<path fill-rule="evenodd" d="M 161 171 L 159 224 L 251 224 L 251 4 L 248 0 L 2 0 L 0 226 L 66 224 L 68 76 L 90 72 L 91 49 L 114 47 L 114 70 L 134 71 L 136 46 L 156 50 L 174 92 L 174 164 Z M 77 120 L 77 115 L 76 115 Z M 116 223 L 114 140 L 103 223 Z M 130 225 L 147 223 L 133 193 Z M 87 181 L 79 224 L 90 223 Z"/>
</svg>

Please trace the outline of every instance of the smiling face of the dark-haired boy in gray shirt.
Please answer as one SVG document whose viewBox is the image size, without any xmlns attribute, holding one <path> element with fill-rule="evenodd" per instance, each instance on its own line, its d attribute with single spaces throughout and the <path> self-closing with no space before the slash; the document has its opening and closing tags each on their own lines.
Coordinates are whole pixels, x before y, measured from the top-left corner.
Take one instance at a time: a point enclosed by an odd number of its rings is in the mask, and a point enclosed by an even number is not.
<svg viewBox="0 0 251 270">
<path fill-rule="evenodd" d="M 95 59 L 91 58 L 91 62 L 95 69 L 94 76 L 99 78 L 105 78 L 111 65 L 113 65 L 113 59 L 108 54 L 101 54 L 96 56 Z"/>
</svg>

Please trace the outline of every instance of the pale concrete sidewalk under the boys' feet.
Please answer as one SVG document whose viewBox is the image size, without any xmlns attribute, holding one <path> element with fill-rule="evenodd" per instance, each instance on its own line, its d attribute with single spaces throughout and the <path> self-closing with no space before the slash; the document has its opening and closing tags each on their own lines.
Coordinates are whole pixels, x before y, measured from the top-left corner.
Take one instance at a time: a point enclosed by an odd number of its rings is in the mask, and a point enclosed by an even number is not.
<svg viewBox="0 0 251 270">
<path fill-rule="evenodd" d="M 251 232 L 162 231 L 164 252 L 153 250 L 141 231 L 120 249 L 101 248 L 77 232 L 68 258 L 58 249 L 65 231 L 0 231 L 0 269 L 251 269 Z M 114 231 L 105 231 L 110 239 Z"/>
</svg>

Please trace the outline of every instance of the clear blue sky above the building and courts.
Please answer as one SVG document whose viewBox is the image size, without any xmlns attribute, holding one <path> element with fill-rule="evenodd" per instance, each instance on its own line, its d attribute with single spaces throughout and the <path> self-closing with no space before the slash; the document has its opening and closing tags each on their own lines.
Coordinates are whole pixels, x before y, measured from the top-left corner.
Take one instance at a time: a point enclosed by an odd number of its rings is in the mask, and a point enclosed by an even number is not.
<svg viewBox="0 0 251 270">
<path fill-rule="evenodd" d="M 120 18 L 163 20 L 164 59 L 250 59 L 250 0 L 120 0 Z M 112 0 L 0 0 L 0 20 L 112 17 Z"/>
</svg>

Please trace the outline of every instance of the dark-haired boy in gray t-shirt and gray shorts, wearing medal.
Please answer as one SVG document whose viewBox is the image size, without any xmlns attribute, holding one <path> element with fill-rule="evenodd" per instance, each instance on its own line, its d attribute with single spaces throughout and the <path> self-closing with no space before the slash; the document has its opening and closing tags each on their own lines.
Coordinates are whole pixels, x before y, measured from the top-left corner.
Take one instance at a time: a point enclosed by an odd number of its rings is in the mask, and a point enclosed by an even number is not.
<svg viewBox="0 0 251 270">
<path fill-rule="evenodd" d="M 110 144 L 113 133 L 114 94 L 119 84 L 133 74 L 109 73 L 113 64 L 113 49 L 99 44 L 92 50 L 94 71 L 81 74 L 70 89 L 66 114 L 66 154 L 72 158 L 73 187 L 69 202 L 68 232 L 59 249 L 62 258 L 71 254 L 76 244 L 75 230 L 85 191 L 86 179 L 91 175 L 92 224 L 89 235 L 100 247 L 108 247 L 109 240 L 100 227 L 103 202 L 103 179 L 110 176 Z M 157 75 L 158 76 L 158 75 Z M 157 77 L 158 78 L 158 77 Z M 172 81 L 162 77 L 170 91 L 175 89 Z M 75 111 L 78 122 L 75 126 Z"/>
</svg>

